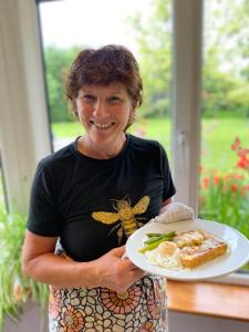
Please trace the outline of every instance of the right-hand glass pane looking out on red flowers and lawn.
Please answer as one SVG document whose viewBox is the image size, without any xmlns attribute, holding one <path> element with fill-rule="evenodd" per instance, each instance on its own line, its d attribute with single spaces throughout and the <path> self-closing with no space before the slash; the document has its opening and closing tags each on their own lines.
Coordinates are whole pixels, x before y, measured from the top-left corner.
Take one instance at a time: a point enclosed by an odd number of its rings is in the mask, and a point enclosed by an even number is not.
<svg viewBox="0 0 249 332">
<path fill-rule="evenodd" d="M 205 9 L 199 215 L 249 238 L 249 2 Z"/>
</svg>

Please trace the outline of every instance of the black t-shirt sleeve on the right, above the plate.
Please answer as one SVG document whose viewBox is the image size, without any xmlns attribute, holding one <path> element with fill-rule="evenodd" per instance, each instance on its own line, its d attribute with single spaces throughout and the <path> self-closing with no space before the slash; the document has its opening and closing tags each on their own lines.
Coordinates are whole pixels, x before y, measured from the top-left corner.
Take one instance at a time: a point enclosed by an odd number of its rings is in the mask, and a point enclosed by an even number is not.
<svg viewBox="0 0 249 332">
<path fill-rule="evenodd" d="M 160 169 L 164 177 L 163 201 L 173 197 L 176 194 L 176 188 L 173 183 L 172 173 L 168 164 L 166 151 L 160 145 Z"/>
</svg>

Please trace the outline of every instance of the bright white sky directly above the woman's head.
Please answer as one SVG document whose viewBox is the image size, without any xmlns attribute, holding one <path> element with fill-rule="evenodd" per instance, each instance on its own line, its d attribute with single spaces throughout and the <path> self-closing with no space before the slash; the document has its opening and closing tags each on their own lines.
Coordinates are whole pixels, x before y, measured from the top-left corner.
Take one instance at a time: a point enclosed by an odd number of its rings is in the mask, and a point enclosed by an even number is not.
<svg viewBox="0 0 249 332">
<path fill-rule="evenodd" d="M 60 0 L 40 3 L 44 45 L 100 46 L 120 43 L 136 52 L 134 34 L 125 18 L 149 12 L 152 0 Z"/>
</svg>

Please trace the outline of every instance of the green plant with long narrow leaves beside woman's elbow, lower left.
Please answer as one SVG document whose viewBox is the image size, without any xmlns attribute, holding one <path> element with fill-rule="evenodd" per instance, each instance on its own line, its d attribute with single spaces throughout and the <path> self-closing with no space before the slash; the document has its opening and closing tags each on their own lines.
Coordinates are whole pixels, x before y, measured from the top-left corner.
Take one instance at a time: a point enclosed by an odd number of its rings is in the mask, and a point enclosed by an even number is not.
<svg viewBox="0 0 249 332">
<path fill-rule="evenodd" d="M 48 287 L 25 278 L 21 271 L 25 225 L 25 218 L 0 209 L 0 330 L 6 315 L 18 321 L 28 300 L 38 302 L 43 315 L 48 303 Z"/>
</svg>

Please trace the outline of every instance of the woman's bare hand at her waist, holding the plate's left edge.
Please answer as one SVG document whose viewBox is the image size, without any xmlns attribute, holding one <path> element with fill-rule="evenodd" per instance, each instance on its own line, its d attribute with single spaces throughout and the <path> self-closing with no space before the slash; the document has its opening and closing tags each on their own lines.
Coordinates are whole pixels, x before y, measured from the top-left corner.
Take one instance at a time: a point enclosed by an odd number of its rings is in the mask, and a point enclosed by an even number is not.
<svg viewBox="0 0 249 332">
<path fill-rule="evenodd" d="M 98 287 L 105 287 L 123 293 L 145 272 L 134 266 L 129 259 L 123 258 L 125 246 L 112 249 L 94 261 Z"/>
</svg>

